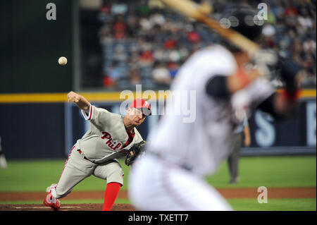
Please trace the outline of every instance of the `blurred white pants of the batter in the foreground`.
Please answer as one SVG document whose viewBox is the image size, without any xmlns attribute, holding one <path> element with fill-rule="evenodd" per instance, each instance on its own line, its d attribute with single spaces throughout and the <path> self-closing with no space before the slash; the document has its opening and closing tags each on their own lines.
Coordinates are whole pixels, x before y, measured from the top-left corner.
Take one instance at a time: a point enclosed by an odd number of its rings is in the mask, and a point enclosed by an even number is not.
<svg viewBox="0 0 317 225">
<path fill-rule="evenodd" d="M 139 210 L 232 210 L 209 183 L 151 154 L 132 166 L 128 191 L 130 201 Z"/>
</svg>

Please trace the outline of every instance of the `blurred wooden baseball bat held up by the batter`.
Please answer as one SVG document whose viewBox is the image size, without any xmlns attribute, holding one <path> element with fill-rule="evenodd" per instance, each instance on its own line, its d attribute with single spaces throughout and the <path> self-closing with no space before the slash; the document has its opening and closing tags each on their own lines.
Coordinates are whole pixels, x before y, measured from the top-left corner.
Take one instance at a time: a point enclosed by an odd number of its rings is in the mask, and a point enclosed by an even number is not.
<svg viewBox="0 0 317 225">
<path fill-rule="evenodd" d="M 254 54 L 259 51 L 260 47 L 255 42 L 252 42 L 247 37 L 244 37 L 239 32 L 231 30 L 229 28 L 223 28 L 221 25 L 212 18 L 209 18 L 204 10 L 199 4 L 194 3 L 190 0 L 161 0 L 164 4 L 173 8 L 175 11 L 178 11 L 185 16 L 194 18 L 195 20 L 200 21 L 201 23 L 206 24 L 212 30 L 218 32 L 221 36 L 228 39 L 230 42 L 235 44 L 237 47 L 240 47 L 243 51 L 246 51 L 249 56 L 254 56 Z"/>
</svg>

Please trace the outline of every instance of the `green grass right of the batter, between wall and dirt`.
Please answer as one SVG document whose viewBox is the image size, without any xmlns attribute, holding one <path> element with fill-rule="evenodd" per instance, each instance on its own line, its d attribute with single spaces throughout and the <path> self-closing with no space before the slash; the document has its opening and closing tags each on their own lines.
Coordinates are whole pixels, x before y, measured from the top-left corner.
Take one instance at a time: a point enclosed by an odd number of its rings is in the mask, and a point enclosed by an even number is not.
<svg viewBox="0 0 317 225">
<path fill-rule="evenodd" d="M 242 157 L 239 174 L 239 183 L 230 186 L 225 162 L 208 181 L 216 188 L 316 187 L 316 156 Z"/>
</svg>

